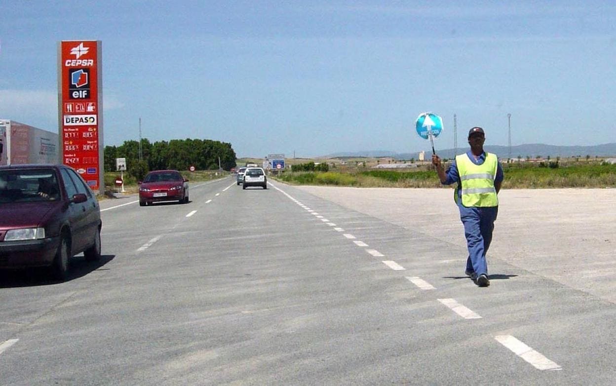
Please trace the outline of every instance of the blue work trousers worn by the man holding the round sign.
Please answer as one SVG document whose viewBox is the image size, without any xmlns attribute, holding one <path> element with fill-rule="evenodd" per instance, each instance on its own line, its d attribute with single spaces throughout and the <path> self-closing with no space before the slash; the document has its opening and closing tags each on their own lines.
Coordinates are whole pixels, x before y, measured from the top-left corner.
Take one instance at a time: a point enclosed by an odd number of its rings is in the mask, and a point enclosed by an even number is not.
<svg viewBox="0 0 616 386">
<path fill-rule="evenodd" d="M 498 206 L 466 207 L 458 204 L 460 220 L 464 224 L 464 236 L 468 247 L 466 270 L 476 273 L 477 276 L 488 274 L 488 264 L 485 254 L 488 253 L 492 243 L 492 231 L 498 215 Z"/>
</svg>

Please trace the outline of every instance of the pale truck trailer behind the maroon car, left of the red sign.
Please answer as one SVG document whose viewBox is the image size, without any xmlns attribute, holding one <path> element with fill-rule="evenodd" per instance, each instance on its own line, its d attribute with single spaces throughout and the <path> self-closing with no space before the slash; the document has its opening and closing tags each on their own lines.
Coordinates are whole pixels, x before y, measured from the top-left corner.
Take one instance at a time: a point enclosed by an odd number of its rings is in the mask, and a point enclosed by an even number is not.
<svg viewBox="0 0 616 386">
<path fill-rule="evenodd" d="M 57 133 L 0 119 L 0 166 L 60 162 Z"/>
</svg>

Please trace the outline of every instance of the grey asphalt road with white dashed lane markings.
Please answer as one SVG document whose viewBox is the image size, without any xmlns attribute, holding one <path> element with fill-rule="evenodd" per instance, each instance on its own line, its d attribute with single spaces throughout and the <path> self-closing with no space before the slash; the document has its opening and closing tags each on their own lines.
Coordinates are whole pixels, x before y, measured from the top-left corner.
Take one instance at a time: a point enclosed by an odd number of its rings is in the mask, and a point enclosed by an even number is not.
<svg viewBox="0 0 616 386">
<path fill-rule="evenodd" d="M 453 233 L 336 192 L 102 201 L 100 262 L 0 276 L 0 384 L 614 384 L 614 302 L 506 259 L 479 288 Z"/>
</svg>

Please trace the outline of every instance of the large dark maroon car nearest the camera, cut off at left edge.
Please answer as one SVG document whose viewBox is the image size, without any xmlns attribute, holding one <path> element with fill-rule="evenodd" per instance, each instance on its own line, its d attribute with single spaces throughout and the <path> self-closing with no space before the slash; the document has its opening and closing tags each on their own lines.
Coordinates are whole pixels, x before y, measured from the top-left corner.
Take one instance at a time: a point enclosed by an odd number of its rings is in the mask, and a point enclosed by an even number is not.
<svg viewBox="0 0 616 386">
<path fill-rule="evenodd" d="M 49 267 L 67 278 L 69 260 L 100 258 L 100 207 L 64 165 L 0 166 L 0 269 Z"/>
</svg>

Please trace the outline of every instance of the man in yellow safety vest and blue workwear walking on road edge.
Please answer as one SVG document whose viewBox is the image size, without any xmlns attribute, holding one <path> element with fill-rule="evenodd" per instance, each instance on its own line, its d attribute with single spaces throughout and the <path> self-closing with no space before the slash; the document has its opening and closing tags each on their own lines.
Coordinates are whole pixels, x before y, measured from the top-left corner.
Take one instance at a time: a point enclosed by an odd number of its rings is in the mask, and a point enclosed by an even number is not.
<svg viewBox="0 0 616 386">
<path fill-rule="evenodd" d="M 458 183 L 454 200 L 460 209 L 468 247 L 465 273 L 480 287 L 490 285 L 485 254 L 492 242 L 498 215 L 498 191 L 503 183 L 503 168 L 496 155 L 484 151 L 484 142 L 484 129 L 473 127 L 468 133 L 471 150 L 456 156 L 447 173 L 439 156 L 432 155 L 440 182 L 443 185 Z"/>
</svg>

